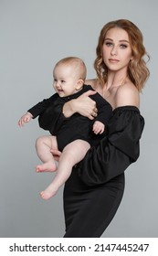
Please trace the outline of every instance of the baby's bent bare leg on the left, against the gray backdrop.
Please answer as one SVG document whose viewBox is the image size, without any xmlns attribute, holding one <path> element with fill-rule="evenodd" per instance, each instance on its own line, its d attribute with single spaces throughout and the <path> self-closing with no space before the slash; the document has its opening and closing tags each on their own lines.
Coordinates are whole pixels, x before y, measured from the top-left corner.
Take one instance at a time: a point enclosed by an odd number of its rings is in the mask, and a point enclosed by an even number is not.
<svg viewBox="0 0 158 256">
<path fill-rule="evenodd" d="M 36 149 L 37 155 L 44 163 L 43 165 L 37 165 L 36 171 L 39 172 L 54 172 L 56 170 L 56 163 L 53 155 L 50 153 L 50 149 L 58 148 L 57 140 L 55 136 L 42 136 L 37 138 Z"/>
</svg>

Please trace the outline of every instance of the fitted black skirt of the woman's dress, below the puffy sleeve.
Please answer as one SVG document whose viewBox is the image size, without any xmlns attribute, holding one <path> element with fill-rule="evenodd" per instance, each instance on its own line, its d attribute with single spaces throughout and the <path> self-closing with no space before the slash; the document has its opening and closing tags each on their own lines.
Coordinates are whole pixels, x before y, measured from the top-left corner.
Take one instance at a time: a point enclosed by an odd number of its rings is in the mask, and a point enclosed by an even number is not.
<svg viewBox="0 0 158 256">
<path fill-rule="evenodd" d="M 64 188 L 64 238 L 100 238 L 120 206 L 123 191 L 124 174 L 88 187 L 74 168 Z"/>
</svg>

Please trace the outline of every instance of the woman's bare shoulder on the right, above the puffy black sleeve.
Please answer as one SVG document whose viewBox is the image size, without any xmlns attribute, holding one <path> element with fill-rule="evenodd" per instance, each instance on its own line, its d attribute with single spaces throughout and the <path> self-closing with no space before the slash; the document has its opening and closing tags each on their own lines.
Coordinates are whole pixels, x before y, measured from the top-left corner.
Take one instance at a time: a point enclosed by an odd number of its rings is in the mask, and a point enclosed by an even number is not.
<svg viewBox="0 0 158 256">
<path fill-rule="evenodd" d="M 132 82 L 127 82 L 121 85 L 115 95 L 116 107 L 121 106 L 140 106 L 140 92 L 134 86 Z"/>
</svg>

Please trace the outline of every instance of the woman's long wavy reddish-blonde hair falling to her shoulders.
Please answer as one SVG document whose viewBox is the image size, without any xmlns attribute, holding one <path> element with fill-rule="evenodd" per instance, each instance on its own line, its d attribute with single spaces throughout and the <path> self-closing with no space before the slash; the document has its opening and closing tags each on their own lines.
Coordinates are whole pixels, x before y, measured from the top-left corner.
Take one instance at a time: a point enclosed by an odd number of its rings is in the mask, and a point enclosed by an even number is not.
<svg viewBox="0 0 158 256">
<path fill-rule="evenodd" d="M 121 27 L 127 32 L 129 36 L 133 58 L 128 65 L 128 77 L 130 78 L 130 80 L 132 80 L 132 83 L 135 85 L 138 91 L 142 91 L 142 88 L 144 87 L 144 84 L 150 75 L 150 71 L 146 66 L 146 62 L 150 59 L 150 56 L 148 55 L 143 46 L 143 37 L 141 30 L 136 27 L 130 20 L 127 19 L 111 21 L 107 23 L 104 27 L 102 27 L 100 31 L 98 46 L 96 48 L 97 58 L 94 61 L 94 69 L 97 72 L 97 79 L 102 86 L 104 86 L 107 81 L 108 68 L 101 57 L 102 45 L 104 43 L 108 30 L 113 27 Z M 145 56 L 147 57 L 146 61 L 144 60 Z"/>
</svg>

